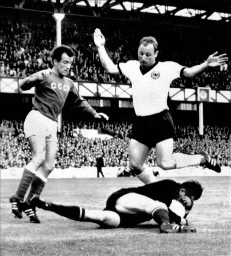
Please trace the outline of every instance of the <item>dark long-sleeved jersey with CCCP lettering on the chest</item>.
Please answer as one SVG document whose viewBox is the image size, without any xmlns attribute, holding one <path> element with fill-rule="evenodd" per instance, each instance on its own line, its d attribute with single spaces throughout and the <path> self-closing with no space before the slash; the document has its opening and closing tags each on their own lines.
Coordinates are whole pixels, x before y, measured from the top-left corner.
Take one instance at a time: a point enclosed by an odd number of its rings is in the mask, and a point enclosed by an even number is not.
<svg viewBox="0 0 231 256">
<path fill-rule="evenodd" d="M 34 73 L 28 77 L 25 83 L 20 85 L 22 90 L 30 89 L 33 86 L 35 86 L 35 90 L 32 109 L 38 110 L 53 121 L 57 121 L 67 96 L 72 101 L 73 106 L 81 107 L 83 111 L 92 115 L 96 113 L 94 108 L 79 95 L 73 81 L 65 76 L 60 77 L 51 72 L 44 79 L 38 80 L 36 73 Z"/>
</svg>

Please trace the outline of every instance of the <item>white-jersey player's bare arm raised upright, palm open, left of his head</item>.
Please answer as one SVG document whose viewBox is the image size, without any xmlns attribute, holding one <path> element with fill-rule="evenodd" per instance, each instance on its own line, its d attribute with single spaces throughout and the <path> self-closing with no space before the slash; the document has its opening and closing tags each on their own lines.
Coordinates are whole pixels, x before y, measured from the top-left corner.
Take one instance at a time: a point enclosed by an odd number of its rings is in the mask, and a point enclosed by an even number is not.
<svg viewBox="0 0 231 256">
<path fill-rule="evenodd" d="M 106 52 L 106 49 L 104 47 L 105 37 L 101 33 L 99 28 L 95 29 L 94 42 L 95 42 L 95 45 L 96 45 L 98 53 L 99 53 L 99 58 L 100 58 L 101 64 L 105 68 L 105 70 L 111 74 L 119 74 L 119 69 L 118 69 L 117 65 L 112 62 L 112 60 L 110 59 L 110 57 L 108 56 L 108 54 Z"/>
</svg>

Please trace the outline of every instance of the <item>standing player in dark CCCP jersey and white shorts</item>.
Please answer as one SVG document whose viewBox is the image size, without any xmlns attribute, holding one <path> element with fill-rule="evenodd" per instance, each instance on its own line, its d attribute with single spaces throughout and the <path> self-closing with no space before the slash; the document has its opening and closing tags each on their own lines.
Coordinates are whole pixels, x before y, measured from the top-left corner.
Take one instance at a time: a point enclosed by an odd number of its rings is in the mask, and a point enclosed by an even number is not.
<svg viewBox="0 0 231 256">
<path fill-rule="evenodd" d="M 41 194 L 47 177 L 54 168 L 57 152 L 57 119 L 68 96 L 73 105 L 95 118 L 105 118 L 97 113 L 88 102 L 79 95 L 71 79 L 67 78 L 72 61 L 73 50 L 66 45 L 54 47 L 51 53 L 53 68 L 38 71 L 24 78 L 20 84 L 22 90 L 35 87 L 32 110 L 24 121 L 24 133 L 28 138 L 32 158 L 25 166 L 17 191 L 10 197 L 12 213 L 22 218 L 22 211 L 31 222 L 39 223 L 35 210 L 29 205 L 33 194 Z M 25 193 L 30 186 L 28 196 Z"/>
</svg>

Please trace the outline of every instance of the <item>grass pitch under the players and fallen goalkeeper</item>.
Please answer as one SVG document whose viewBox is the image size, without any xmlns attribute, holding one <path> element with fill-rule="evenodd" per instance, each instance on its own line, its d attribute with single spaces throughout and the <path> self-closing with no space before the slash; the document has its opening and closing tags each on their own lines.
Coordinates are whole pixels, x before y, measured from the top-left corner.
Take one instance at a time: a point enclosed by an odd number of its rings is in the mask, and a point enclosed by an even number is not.
<svg viewBox="0 0 231 256">
<path fill-rule="evenodd" d="M 178 182 L 193 177 L 173 178 Z M 160 178 L 161 179 L 161 178 Z M 19 180 L 1 180 L 1 256 L 231 255 L 231 177 L 197 177 L 204 186 L 188 216 L 197 233 L 160 234 L 154 221 L 135 228 L 100 229 L 97 224 L 37 210 L 40 224 L 13 218 L 9 197 Z M 122 187 L 142 183 L 136 177 L 50 179 L 42 197 L 57 203 L 103 209 L 107 197 Z"/>
</svg>

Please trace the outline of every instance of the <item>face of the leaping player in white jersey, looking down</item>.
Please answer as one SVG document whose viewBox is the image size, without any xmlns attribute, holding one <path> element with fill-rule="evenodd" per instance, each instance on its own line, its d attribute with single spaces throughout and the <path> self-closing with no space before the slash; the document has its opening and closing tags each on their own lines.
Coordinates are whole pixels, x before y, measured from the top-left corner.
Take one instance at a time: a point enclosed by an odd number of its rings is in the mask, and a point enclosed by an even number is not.
<svg viewBox="0 0 231 256">
<path fill-rule="evenodd" d="M 149 67 L 153 65 L 156 61 L 158 55 L 158 50 L 155 52 L 154 46 L 152 43 L 147 45 L 140 44 L 138 48 L 138 60 L 142 67 Z"/>
</svg>

